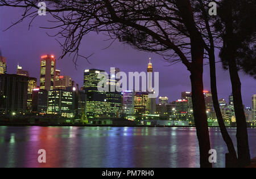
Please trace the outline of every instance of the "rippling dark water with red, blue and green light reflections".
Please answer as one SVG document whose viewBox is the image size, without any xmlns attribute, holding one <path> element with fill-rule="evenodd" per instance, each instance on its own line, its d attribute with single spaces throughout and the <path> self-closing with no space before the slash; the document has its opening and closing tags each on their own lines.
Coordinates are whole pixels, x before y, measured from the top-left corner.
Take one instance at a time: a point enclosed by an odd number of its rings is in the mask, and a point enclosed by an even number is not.
<svg viewBox="0 0 256 179">
<path fill-rule="evenodd" d="M 214 167 L 225 167 L 220 129 L 211 128 Z M 236 129 L 228 129 L 236 144 Z M 256 129 L 248 129 L 256 157 Z M 47 163 L 38 163 L 38 150 Z M 195 128 L 0 126 L 0 167 L 200 167 Z"/>
</svg>

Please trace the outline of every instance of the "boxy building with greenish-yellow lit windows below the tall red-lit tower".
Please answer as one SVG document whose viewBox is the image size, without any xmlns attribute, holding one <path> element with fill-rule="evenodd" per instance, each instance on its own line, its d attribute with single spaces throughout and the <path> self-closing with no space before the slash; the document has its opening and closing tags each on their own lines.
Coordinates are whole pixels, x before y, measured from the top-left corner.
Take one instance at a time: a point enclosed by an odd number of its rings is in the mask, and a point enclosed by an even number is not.
<svg viewBox="0 0 256 179">
<path fill-rule="evenodd" d="M 73 94 L 66 90 L 51 90 L 48 92 L 48 114 L 62 117 L 73 117 Z"/>
</svg>

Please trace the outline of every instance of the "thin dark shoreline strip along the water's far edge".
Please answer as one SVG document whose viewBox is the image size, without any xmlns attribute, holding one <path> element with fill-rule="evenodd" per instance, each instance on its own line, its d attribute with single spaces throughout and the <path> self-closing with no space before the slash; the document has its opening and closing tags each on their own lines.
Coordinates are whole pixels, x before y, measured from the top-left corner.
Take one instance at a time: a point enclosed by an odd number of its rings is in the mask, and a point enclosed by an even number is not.
<svg viewBox="0 0 256 179">
<path fill-rule="evenodd" d="M 81 125 L 81 124 L 37 124 L 37 123 L 0 123 L 0 126 L 13 126 L 13 127 L 186 127 L 186 128 L 195 128 L 196 126 L 158 126 L 158 125 Z M 220 128 L 219 126 L 209 126 L 209 128 Z M 237 128 L 237 127 L 227 127 L 227 128 Z M 256 127 L 247 127 L 255 128 Z"/>
</svg>

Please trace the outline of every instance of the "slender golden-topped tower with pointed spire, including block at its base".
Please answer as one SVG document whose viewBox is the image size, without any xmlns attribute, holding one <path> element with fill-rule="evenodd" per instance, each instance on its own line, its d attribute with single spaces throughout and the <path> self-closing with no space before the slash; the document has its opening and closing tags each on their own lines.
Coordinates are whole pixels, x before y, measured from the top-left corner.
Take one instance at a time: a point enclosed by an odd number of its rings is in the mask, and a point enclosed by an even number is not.
<svg viewBox="0 0 256 179">
<path fill-rule="evenodd" d="M 152 90 L 152 63 L 151 63 L 151 58 L 150 62 L 147 65 L 147 73 L 148 73 L 148 93 L 154 93 L 154 90 Z M 155 114 L 156 113 L 156 99 L 155 98 L 150 98 L 149 99 L 149 114 Z"/>
</svg>

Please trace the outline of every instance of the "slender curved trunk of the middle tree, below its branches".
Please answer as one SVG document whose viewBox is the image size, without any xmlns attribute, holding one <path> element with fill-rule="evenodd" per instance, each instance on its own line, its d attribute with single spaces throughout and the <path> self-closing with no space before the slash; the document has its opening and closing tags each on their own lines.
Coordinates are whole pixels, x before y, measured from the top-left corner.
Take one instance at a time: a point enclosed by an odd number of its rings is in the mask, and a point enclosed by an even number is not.
<svg viewBox="0 0 256 179">
<path fill-rule="evenodd" d="M 212 100 L 214 110 L 218 119 L 218 125 L 220 126 L 222 137 L 228 147 L 229 154 L 226 155 L 226 168 L 237 167 L 237 153 L 234 148 L 232 139 L 229 136 L 228 130 L 224 123 L 224 119 L 221 114 L 220 104 L 218 103 L 218 93 L 217 93 L 217 82 L 216 82 L 216 65 L 215 65 L 215 55 L 214 50 L 209 54 L 210 58 L 210 87 L 212 91 Z"/>
</svg>

